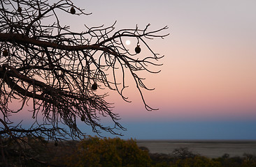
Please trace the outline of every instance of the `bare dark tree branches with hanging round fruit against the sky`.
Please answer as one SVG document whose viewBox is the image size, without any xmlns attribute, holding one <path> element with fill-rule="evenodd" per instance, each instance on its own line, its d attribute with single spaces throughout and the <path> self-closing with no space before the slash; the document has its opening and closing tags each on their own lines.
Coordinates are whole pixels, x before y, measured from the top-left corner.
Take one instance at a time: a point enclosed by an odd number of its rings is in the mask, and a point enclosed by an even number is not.
<svg viewBox="0 0 256 167">
<path fill-rule="evenodd" d="M 136 26 L 114 31 L 115 24 L 85 25 L 85 31 L 73 32 L 61 24 L 58 13 L 91 13 L 69 0 L 53 4 L 48 0 L 1 0 L 0 6 L 1 136 L 17 139 L 30 134 L 55 141 L 80 138 L 84 133 L 76 125 L 78 119 L 98 134 L 102 130 L 117 134 L 115 129 L 125 128 L 104 99 L 107 93 L 99 90 L 115 90 L 129 102 L 122 93 L 127 75 L 134 79 L 145 109 L 152 110 L 142 93 L 151 89 L 143 84 L 140 72 L 159 72 L 150 67 L 160 65 L 157 60 L 163 56 L 146 41 L 166 37 L 168 34 L 159 34 L 166 26 L 155 31 L 148 31 L 150 24 L 145 29 Z M 136 39 L 133 50 L 127 49 L 125 38 Z M 140 45 L 151 55 L 143 55 Z M 34 119 L 27 129 L 10 120 L 26 107 Z M 113 127 L 101 125 L 101 117 L 111 118 Z"/>
</svg>

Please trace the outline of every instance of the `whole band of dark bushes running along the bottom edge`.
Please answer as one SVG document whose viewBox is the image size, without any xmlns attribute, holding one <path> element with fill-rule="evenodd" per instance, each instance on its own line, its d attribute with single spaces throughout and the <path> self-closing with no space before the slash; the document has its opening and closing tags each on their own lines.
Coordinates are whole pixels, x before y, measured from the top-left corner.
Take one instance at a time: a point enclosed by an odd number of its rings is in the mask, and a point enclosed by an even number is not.
<svg viewBox="0 0 256 167">
<path fill-rule="evenodd" d="M 256 156 L 229 157 L 224 154 L 210 159 L 194 154 L 188 148 L 177 148 L 170 154 L 152 154 L 138 147 L 133 139 L 89 136 L 83 141 L 46 142 L 43 138 L 26 138 L 26 145 L 11 139 L 2 140 L 0 166 L 85 166 L 85 167 L 256 167 Z"/>
</svg>

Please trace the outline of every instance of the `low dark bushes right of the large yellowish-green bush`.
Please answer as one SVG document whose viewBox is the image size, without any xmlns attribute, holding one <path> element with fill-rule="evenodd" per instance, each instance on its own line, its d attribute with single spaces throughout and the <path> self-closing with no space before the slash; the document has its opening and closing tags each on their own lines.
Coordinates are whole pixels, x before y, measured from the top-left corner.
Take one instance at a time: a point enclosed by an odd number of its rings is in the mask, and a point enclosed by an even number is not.
<svg viewBox="0 0 256 167">
<path fill-rule="evenodd" d="M 173 154 L 149 154 L 154 167 L 256 167 L 256 156 L 253 154 L 243 154 L 243 157 L 229 157 L 229 154 L 224 154 L 211 159 L 193 154 L 187 148 L 176 149 Z"/>
</svg>

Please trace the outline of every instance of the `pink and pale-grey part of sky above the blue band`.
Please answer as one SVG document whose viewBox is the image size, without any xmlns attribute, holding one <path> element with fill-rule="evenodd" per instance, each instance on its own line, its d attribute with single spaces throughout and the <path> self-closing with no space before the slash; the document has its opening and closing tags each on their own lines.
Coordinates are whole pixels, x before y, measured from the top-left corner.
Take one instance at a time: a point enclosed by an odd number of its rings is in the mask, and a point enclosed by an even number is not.
<svg viewBox="0 0 256 167">
<path fill-rule="evenodd" d="M 117 110 L 125 105 L 123 114 L 131 118 L 149 114 L 163 119 L 255 120 L 256 11 L 253 6 L 256 3 L 161 2 L 149 1 L 148 6 L 140 2 L 141 10 L 134 7 L 134 10 L 124 10 L 119 15 L 114 14 L 117 10 L 108 8 L 104 17 L 105 22 L 117 19 L 118 27 L 143 26 L 145 22 L 150 22 L 154 28 L 168 25 L 171 33 L 164 40 L 150 42 L 152 49 L 165 55 L 160 61 L 164 65 L 158 68 L 162 72 L 145 74 L 148 85 L 156 88 L 145 93 L 145 99 L 159 111 L 156 114 L 137 111 L 143 104 L 138 95 L 129 90 L 129 97 L 134 102 L 126 105 L 116 100 Z M 122 5 L 126 9 L 132 8 L 123 2 L 115 7 Z M 101 13 L 97 8 L 92 11 L 95 15 Z M 134 20 L 127 19 L 129 17 Z M 99 20 L 104 22 L 101 17 Z"/>
</svg>

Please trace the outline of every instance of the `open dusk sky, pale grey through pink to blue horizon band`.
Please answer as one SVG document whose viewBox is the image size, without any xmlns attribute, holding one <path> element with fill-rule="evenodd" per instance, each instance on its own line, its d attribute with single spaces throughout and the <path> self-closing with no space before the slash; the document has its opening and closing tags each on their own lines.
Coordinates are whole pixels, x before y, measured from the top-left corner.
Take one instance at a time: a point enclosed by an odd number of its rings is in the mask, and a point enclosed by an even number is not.
<svg viewBox="0 0 256 167">
<path fill-rule="evenodd" d="M 73 1 L 92 13 L 63 16 L 72 30 L 111 26 L 116 31 L 169 26 L 169 36 L 149 41 L 164 55 L 159 74 L 145 74 L 146 111 L 132 86 L 124 102 L 109 92 L 127 128 L 122 138 L 256 139 L 256 1 Z M 131 43 L 133 45 L 133 43 Z M 143 51 L 141 52 L 143 54 Z M 108 124 L 108 122 L 106 122 Z M 88 134 L 90 128 L 83 128 Z M 103 133 L 106 136 L 109 134 Z M 113 137 L 113 136 L 111 136 Z"/>
</svg>

